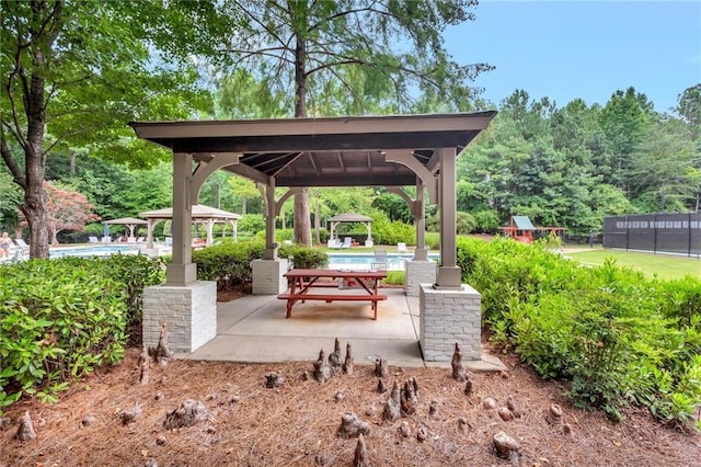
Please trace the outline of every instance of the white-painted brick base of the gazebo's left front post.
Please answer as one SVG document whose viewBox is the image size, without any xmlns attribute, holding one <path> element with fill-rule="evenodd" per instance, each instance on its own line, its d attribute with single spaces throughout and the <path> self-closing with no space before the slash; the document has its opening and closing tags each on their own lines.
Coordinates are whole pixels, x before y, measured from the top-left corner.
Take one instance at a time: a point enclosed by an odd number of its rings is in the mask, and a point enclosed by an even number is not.
<svg viewBox="0 0 701 467">
<path fill-rule="evenodd" d="M 161 323 L 174 352 L 194 352 L 217 335 L 217 283 L 156 285 L 143 289 L 143 344 L 158 345 Z"/>
</svg>

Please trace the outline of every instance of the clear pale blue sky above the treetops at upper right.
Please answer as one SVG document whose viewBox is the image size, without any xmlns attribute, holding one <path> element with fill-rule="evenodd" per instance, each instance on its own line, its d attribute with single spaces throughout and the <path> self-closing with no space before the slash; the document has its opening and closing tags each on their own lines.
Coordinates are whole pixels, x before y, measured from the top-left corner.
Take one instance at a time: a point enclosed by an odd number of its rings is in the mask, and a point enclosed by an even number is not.
<svg viewBox="0 0 701 467">
<path fill-rule="evenodd" d="M 494 104 L 517 89 L 559 107 L 605 105 L 617 90 L 669 112 L 701 83 L 701 1 L 481 0 L 476 19 L 446 31 L 459 64 L 496 68 L 473 82 Z"/>
</svg>

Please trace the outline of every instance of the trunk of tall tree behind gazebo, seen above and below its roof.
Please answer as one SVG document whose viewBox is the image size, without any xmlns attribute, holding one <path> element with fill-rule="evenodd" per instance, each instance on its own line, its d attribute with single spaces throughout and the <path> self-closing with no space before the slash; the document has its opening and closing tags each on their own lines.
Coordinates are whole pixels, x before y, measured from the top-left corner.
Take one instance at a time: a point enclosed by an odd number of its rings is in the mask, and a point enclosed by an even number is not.
<svg viewBox="0 0 701 467">
<path fill-rule="evenodd" d="M 307 44 L 298 34 L 295 46 L 295 116 L 307 116 Z M 309 213 L 309 189 L 295 195 L 295 242 L 311 247 L 311 219 Z"/>
</svg>

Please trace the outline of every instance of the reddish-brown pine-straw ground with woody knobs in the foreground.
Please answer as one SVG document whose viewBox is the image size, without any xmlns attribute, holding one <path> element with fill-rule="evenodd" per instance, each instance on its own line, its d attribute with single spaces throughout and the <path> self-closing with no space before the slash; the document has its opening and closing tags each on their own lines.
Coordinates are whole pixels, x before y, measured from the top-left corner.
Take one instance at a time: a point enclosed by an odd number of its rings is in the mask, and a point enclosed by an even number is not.
<svg viewBox="0 0 701 467">
<path fill-rule="evenodd" d="M 372 466 L 507 466 L 510 462 L 493 448 L 501 431 L 520 444 L 521 466 L 701 465 L 699 433 L 665 428 L 645 410 L 630 409 L 622 423 L 612 423 L 599 412 L 574 409 L 562 396 L 564 383 L 543 381 L 515 355 L 499 355 L 506 373 L 472 374 L 471 395 L 450 369 L 401 368 L 388 362 L 389 388 L 410 377 L 418 386 L 416 412 L 389 422 L 382 420 L 389 391 L 378 394 L 371 362 L 357 361 L 352 375 L 323 384 L 304 380 L 318 353 L 309 349 L 309 362 L 302 363 L 153 364 L 150 381 L 140 385 L 139 350 L 129 349 L 120 365 L 73 384 L 58 403 L 25 400 L 11 407 L 9 422 L 0 424 L 0 466 L 349 466 L 357 440 L 336 435 L 348 412 L 369 423 L 365 441 Z M 283 376 L 279 388 L 265 387 L 271 373 Z M 521 417 L 504 421 L 498 409 L 508 396 Z M 486 408 L 486 398 L 496 407 Z M 187 399 L 204 405 L 206 419 L 166 430 L 166 414 Z M 570 434 L 562 424 L 548 422 L 553 403 L 562 408 Z M 140 414 L 124 424 L 122 412 L 137 406 Z M 20 442 L 15 434 L 25 411 L 37 436 Z M 423 441 L 420 429 L 426 434 Z"/>
</svg>

